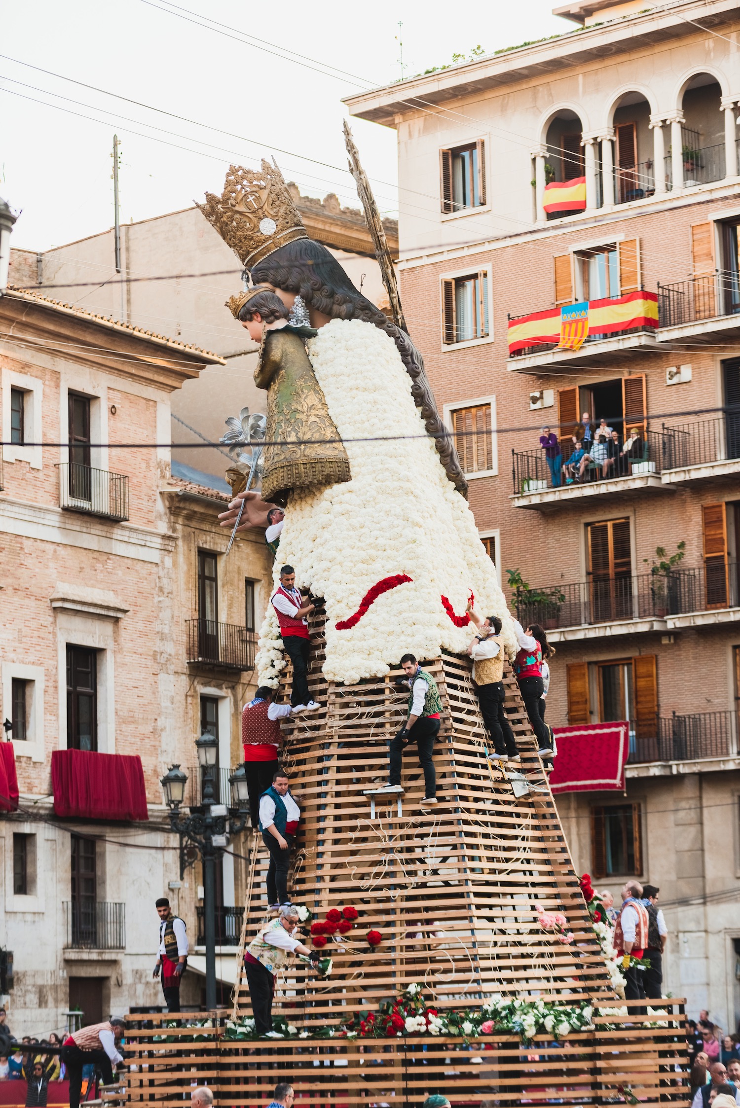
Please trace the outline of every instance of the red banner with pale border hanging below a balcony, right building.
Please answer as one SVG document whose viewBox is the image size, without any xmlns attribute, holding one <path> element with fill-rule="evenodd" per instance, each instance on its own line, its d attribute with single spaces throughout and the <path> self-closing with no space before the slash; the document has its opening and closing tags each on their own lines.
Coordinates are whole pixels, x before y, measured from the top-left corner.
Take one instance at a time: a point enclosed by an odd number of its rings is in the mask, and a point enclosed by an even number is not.
<svg viewBox="0 0 740 1108">
<path fill-rule="evenodd" d="M 549 774 L 553 792 L 624 792 L 629 753 L 629 724 L 584 724 L 554 727 L 557 753 Z"/>
</svg>

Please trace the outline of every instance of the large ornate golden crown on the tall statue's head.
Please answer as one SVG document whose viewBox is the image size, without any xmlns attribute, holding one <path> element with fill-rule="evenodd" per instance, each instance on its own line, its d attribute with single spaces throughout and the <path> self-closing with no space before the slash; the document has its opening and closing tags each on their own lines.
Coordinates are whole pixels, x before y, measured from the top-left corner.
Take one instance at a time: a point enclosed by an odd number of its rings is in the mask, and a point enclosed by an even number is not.
<svg viewBox="0 0 740 1108">
<path fill-rule="evenodd" d="M 308 238 L 282 174 L 265 158 L 260 171 L 229 166 L 222 195 L 206 193 L 197 206 L 245 269 L 295 238 Z"/>
</svg>

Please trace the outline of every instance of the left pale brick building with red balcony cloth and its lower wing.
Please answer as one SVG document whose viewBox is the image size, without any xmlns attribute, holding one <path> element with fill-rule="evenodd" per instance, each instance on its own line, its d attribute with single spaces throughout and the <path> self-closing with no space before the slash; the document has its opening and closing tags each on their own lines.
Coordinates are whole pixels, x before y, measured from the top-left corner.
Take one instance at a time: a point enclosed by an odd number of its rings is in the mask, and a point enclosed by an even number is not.
<svg viewBox="0 0 740 1108">
<path fill-rule="evenodd" d="M 0 799 L 0 947 L 20 1036 L 64 1030 L 70 1009 L 94 1023 L 162 1004 L 163 894 L 195 947 L 184 999 L 201 1003 L 202 876 L 160 779 L 179 763 L 198 803 L 210 732 L 228 802 L 270 560 L 257 531 L 226 557 L 229 496 L 171 475 L 172 397 L 222 358 L 18 289 L 0 332 L 0 719 L 20 792 Z M 224 855 L 222 935 L 240 881 Z"/>
</svg>

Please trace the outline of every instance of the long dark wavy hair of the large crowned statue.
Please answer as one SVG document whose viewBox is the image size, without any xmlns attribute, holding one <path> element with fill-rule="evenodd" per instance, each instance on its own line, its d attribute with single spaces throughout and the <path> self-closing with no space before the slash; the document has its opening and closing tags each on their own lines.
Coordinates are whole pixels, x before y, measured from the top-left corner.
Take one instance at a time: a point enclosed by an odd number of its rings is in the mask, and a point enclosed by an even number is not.
<svg viewBox="0 0 740 1108">
<path fill-rule="evenodd" d="M 311 238 L 297 238 L 258 261 L 251 270 L 251 280 L 255 285 L 265 281 L 286 293 L 297 293 L 307 305 L 332 319 L 361 319 L 390 335 L 411 378 L 411 394 L 417 408 L 421 408 L 428 432 L 434 435 L 446 474 L 463 495 L 467 492 L 458 452 L 436 410 L 421 355 L 407 332 L 354 288 L 326 246 Z"/>
</svg>

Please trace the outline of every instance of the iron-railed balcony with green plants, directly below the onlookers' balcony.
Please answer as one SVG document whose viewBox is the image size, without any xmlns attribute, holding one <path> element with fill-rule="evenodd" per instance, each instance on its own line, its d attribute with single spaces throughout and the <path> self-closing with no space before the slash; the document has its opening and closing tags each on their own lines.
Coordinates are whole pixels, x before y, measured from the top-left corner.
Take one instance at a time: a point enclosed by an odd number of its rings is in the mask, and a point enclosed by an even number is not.
<svg viewBox="0 0 740 1108">
<path fill-rule="evenodd" d="M 537 623 L 554 643 L 737 620 L 740 563 L 720 556 L 669 573 L 528 586 L 514 594 L 513 605 L 523 627 Z"/>
</svg>

